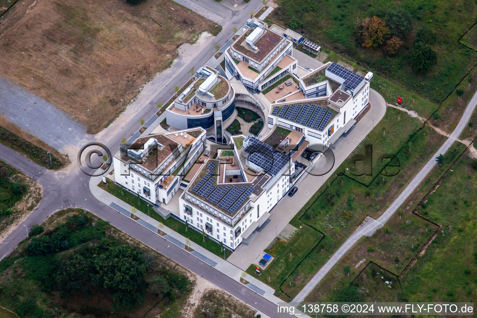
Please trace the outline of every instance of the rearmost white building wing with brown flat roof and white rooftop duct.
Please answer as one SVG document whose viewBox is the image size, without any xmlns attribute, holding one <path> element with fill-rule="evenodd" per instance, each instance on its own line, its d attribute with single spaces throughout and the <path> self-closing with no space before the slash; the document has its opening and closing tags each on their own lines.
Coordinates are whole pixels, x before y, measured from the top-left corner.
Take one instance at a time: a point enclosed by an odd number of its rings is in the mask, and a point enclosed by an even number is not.
<svg viewBox="0 0 477 318">
<path fill-rule="evenodd" d="M 236 76 L 251 92 L 260 92 L 287 73 L 297 72 L 292 42 L 256 18 L 225 51 L 225 73 Z"/>
</svg>

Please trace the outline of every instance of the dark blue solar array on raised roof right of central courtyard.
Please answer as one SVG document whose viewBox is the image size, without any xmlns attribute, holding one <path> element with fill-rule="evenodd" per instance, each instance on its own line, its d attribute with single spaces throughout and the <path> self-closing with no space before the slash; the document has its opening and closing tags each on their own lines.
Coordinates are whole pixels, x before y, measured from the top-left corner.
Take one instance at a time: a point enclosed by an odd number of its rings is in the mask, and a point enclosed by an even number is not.
<svg viewBox="0 0 477 318">
<path fill-rule="evenodd" d="M 249 153 L 249 162 L 258 165 L 265 172 L 276 175 L 285 164 L 290 162 L 290 156 L 277 152 L 272 146 L 265 144 L 251 135 L 247 137 L 248 145 L 244 149 Z"/>
</svg>

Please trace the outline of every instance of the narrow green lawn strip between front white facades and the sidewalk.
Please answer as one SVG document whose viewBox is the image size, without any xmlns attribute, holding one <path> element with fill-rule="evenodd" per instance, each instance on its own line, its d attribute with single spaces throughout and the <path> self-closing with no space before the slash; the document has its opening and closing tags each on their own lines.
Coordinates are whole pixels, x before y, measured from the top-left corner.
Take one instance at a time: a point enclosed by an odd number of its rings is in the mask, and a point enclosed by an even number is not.
<svg viewBox="0 0 477 318">
<path fill-rule="evenodd" d="M 188 237 L 192 242 L 196 243 L 199 246 L 204 247 L 208 251 L 214 253 L 217 256 L 224 257 L 224 252 L 220 251 L 220 244 L 216 241 L 211 240 L 207 236 L 205 237 L 205 242 L 202 242 L 202 234 L 194 230 L 192 227 L 188 227 L 186 231 L 186 225 L 173 216 L 169 216 L 167 219 L 164 219 L 161 215 L 159 215 L 156 211 L 154 211 L 151 207 L 149 207 L 149 212 L 147 209 L 147 202 L 143 199 L 137 199 L 137 195 L 133 195 L 127 190 L 124 190 L 121 186 L 115 185 L 113 182 L 108 180 L 107 185 L 104 185 L 103 182 L 100 182 L 98 186 L 110 194 L 120 198 L 122 201 L 127 203 L 128 205 L 135 206 L 136 209 L 149 215 L 154 218 L 155 220 L 161 222 L 165 226 L 169 227 L 173 231 L 179 233 L 184 237 Z M 123 194 L 121 194 L 123 191 Z M 137 204 L 138 201 L 141 204 Z M 226 258 L 232 254 L 228 249 L 225 249 Z"/>
</svg>

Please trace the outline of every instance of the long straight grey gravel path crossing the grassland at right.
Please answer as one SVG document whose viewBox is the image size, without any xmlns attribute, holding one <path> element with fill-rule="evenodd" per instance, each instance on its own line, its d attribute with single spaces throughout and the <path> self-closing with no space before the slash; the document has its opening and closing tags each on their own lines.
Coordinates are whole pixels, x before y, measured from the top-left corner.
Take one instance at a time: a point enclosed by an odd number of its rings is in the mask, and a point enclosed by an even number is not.
<svg viewBox="0 0 477 318">
<path fill-rule="evenodd" d="M 460 119 L 459 123 L 456 126 L 456 129 L 450 134 L 449 138 L 446 142 L 437 150 L 436 154 L 434 154 L 431 159 L 425 164 L 425 166 L 415 175 L 415 177 L 411 180 L 409 185 L 407 185 L 403 192 L 394 200 L 394 202 L 384 211 L 384 213 L 376 220 L 376 222 L 370 223 L 369 226 L 373 226 L 374 230 L 381 228 L 389 218 L 397 211 L 397 209 L 404 203 L 404 201 L 411 195 L 418 185 L 424 180 L 425 176 L 431 172 L 431 170 L 436 165 L 436 157 L 439 154 L 445 154 L 447 150 L 449 150 L 450 146 L 455 142 L 458 141 L 458 138 L 464 128 L 466 128 L 467 123 L 469 121 L 470 116 L 474 112 L 474 109 L 477 105 L 477 92 L 474 93 L 474 96 L 470 100 L 467 105 L 466 110 L 464 111 L 462 118 Z M 369 223 L 369 222 L 368 222 Z M 368 224 L 366 224 L 368 226 Z M 310 282 L 306 284 L 305 287 L 298 293 L 298 295 L 293 299 L 294 302 L 301 302 L 304 300 L 308 294 L 310 294 L 311 290 L 316 287 L 325 277 L 325 275 L 332 269 L 332 267 L 340 260 L 346 252 L 356 243 L 362 236 L 363 233 L 367 233 L 370 231 L 369 228 L 366 231 L 363 231 L 363 227 L 359 226 L 356 231 L 343 243 L 343 245 L 333 254 L 330 260 L 323 266 L 321 269 L 316 273 L 316 275 L 311 278 Z"/>
</svg>

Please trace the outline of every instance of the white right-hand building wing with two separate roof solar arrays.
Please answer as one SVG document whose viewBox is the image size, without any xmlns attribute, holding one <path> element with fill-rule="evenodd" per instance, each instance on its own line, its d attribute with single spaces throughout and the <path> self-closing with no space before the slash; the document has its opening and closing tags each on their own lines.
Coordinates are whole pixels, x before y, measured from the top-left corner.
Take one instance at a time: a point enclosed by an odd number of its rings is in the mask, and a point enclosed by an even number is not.
<svg viewBox="0 0 477 318">
<path fill-rule="evenodd" d="M 271 103 L 269 127 L 279 125 L 303 133 L 313 144 L 334 144 L 368 106 L 373 73 L 360 76 L 328 62 L 301 77 L 304 99 Z"/>
</svg>

